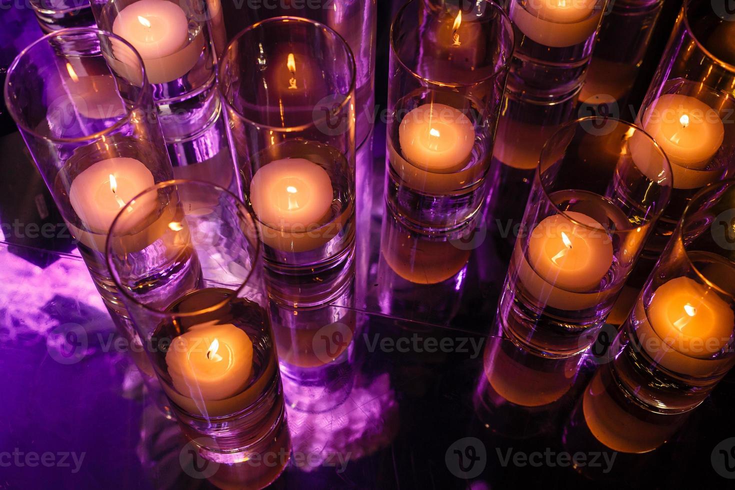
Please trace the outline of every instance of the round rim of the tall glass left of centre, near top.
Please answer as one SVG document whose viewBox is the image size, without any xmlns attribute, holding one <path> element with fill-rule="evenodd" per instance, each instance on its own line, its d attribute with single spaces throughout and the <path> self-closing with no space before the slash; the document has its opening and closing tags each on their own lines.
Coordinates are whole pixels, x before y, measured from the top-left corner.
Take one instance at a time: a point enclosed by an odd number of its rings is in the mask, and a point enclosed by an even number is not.
<svg viewBox="0 0 735 490">
<path fill-rule="evenodd" d="M 254 31 L 255 29 L 259 29 L 265 24 L 276 24 L 276 23 L 287 23 L 290 21 L 299 22 L 302 24 L 309 24 L 313 27 L 317 27 L 318 29 L 323 30 L 324 32 L 328 32 L 329 35 L 335 37 L 337 40 L 342 43 L 343 48 L 345 49 L 345 53 L 347 53 L 347 59 L 348 59 L 348 70 L 349 70 L 349 77 L 350 77 L 350 88 L 348 90 L 347 95 L 345 96 L 345 100 L 340 102 L 338 104 L 337 109 L 342 111 L 345 107 L 350 104 L 354 98 L 355 98 L 355 87 L 357 82 L 357 65 L 355 64 L 355 55 L 352 52 L 352 48 L 350 48 L 350 45 L 348 45 L 347 41 L 345 41 L 345 38 L 340 35 L 339 32 L 335 31 L 331 27 L 327 26 L 326 24 L 322 24 L 317 21 L 312 21 L 311 19 L 304 18 L 304 17 L 296 17 L 294 15 L 280 15 L 279 17 L 271 17 L 264 19 L 262 21 L 256 22 L 255 24 L 252 24 L 251 26 L 245 27 L 242 31 L 238 32 L 235 37 L 230 40 L 229 43 L 227 43 L 227 46 L 223 52 L 223 54 L 218 57 L 218 67 L 217 67 L 217 73 L 216 73 L 216 84 L 217 84 L 217 91 L 220 94 L 220 98 L 222 99 L 222 103 L 226 106 L 232 109 L 232 111 L 237 115 L 240 120 L 245 121 L 245 123 L 250 124 L 251 126 L 255 126 L 259 129 L 268 129 L 268 131 L 275 131 L 279 133 L 293 133 L 293 132 L 301 132 L 306 131 L 309 128 L 317 127 L 319 123 L 322 123 L 323 121 L 326 121 L 328 118 L 327 115 L 324 115 L 323 118 L 319 118 L 318 120 L 314 120 L 312 118 L 312 122 L 301 124 L 299 126 L 268 126 L 268 124 L 262 124 L 257 121 L 251 120 L 250 118 L 246 118 L 239 110 L 237 110 L 236 107 L 234 107 L 232 104 L 230 104 L 229 100 L 227 100 L 227 96 L 225 93 L 225 90 L 222 88 L 222 82 L 221 79 L 223 78 L 223 71 L 225 68 L 226 63 L 223 62 L 223 59 L 227 56 L 227 54 L 230 51 L 230 48 L 235 45 L 235 43 L 239 43 L 240 40 L 248 33 Z M 341 94 L 340 94 L 341 95 Z"/>
</svg>

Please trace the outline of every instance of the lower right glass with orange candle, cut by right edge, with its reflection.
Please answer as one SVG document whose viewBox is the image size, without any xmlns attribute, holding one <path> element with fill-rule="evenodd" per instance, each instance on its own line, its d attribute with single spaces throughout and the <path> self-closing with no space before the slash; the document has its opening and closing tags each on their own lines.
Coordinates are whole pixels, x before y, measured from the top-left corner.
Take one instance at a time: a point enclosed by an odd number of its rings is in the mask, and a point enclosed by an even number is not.
<svg viewBox="0 0 735 490">
<path fill-rule="evenodd" d="M 576 445 L 664 444 L 735 364 L 735 180 L 686 207 L 567 425 Z M 577 448 L 578 449 L 578 448 Z"/>
</svg>

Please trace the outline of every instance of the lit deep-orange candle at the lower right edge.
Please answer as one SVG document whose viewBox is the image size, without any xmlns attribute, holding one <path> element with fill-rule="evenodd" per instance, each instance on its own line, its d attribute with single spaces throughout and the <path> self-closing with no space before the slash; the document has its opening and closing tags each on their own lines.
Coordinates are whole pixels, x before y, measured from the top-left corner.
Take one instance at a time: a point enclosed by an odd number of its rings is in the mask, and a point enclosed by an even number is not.
<svg viewBox="0 0 735 490">
<path fill-rule="evenodd" d="M 648 305 L 648 320 L 667 346 L 698 359 L 720 352 L 735 329 L 735 314 L 728 303 L 686 277 L 656 289 Z"/>
</svg>

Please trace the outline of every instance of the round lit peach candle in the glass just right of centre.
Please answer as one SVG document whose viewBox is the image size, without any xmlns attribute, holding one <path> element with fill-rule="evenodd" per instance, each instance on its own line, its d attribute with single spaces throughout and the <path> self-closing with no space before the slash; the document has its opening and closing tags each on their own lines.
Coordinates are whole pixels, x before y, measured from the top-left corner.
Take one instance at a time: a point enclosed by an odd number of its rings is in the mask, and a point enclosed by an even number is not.
<svg viewBox="0 0 735 490">
<path fill-rule="evenodd" d="M 398 128 L 404 158 L 433 173 L 461 170 L 475 145 L 475 128 L 461 111 L 445 104 L 424 104 L 409 112 Z"/>
</svg>

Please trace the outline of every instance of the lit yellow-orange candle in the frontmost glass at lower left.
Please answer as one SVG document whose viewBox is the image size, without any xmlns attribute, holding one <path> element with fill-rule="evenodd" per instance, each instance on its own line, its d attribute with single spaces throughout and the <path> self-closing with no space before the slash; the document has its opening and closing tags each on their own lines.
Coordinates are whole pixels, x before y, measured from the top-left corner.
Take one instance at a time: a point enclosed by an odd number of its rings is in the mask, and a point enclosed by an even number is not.
<svg viewBox="0 0 735 490">
<path fill-rule="evenodd" d="M 194 325 L 166 353 L 171 382 L 195 400 L 225 400 L 245 389 L 253 367 L 253 343 L 231 323 Z"/>
</svg>

